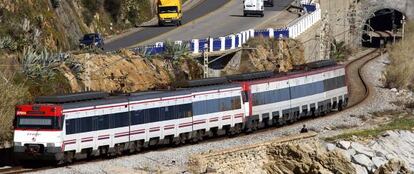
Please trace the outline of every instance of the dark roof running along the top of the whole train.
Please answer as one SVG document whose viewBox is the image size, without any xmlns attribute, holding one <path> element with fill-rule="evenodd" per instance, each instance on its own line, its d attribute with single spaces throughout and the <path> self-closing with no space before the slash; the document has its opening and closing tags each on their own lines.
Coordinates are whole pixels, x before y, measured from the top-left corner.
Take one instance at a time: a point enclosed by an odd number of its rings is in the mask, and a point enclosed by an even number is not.
<svg viewBox="0 0 414 174">
<path fill-rule="evenodd" d="M 289 77 L 292 75 L 300 75 L 303 73 L 309 73 L 310 70 L 322 70 L 328 67 L 335 67 L 337 64 L 332 61 L 317 61 L 310 64 L 306 64 L 306 68 L 300 68 L 288 73 L 273 73 L 270 71 L 255 72 L 231 75 L 220 78 L 210 78 L 202 80 L 188 81 L 186 88 L 180 88 L 175 90 L 161 90 L 161 91 L 145 91 L 137 93 L 122 94 L 117 96 L 109 96 L 105 92 L 82 92 L 67 95 L 57 96 L 42 96 L 35 99 L 39 104 L 58 104 L 62 105 L 64 109 L 74 109 L 99 105 L 110 105 L 117 103 L 126 103 L 128 101 L 140 101 L 155 98 L 165 98 L 181 95 L 190 95 L 191 93 L 222 90 L 228 88 L 240 87 L 237 82 L 243 81 L 263 81 L 266 79 L 279 79 L 283 77 Z M 302 65 L 303 66 L 303 65 Z M 235 83 L 236 82 L 236 83 Z"/>
</svg>

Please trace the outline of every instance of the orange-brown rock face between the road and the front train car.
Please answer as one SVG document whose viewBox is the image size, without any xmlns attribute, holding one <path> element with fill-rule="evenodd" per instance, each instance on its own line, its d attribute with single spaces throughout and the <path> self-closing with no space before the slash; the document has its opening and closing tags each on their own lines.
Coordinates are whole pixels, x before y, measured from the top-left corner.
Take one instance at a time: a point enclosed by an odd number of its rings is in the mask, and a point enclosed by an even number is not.
<svg viewBox="0 0 414 174">
<path fill-rule="evenodd" d="M 191 79 L 200 75 L 201 68 L 191 60 L 181 60 L 177 65 L 162 59 L 145 59 L 127 50 L 119 54 L 79 54 L 74 59 L 83 66 L 80 74 L 66 68 L 63 74 L 73 91 L 85 87 L 94 91 L 136 92 L 166 89 L 177 76 Z M 179 67 L 173 67 L 179 66 Z M 76 78 L 74 78 L 76 77 Z"/>
</svg>

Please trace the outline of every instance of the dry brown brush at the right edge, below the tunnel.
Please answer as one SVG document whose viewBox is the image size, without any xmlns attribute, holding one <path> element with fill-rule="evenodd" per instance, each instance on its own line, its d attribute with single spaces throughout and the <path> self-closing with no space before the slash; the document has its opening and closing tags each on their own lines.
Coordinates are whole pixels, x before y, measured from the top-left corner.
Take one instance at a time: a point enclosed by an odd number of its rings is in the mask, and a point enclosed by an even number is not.
<svg viewBox="0 0 414 174">
<path fill-rule="evenodd" d="M 409 23 L 406 38 L 389 48 L 390 65 L 385 72 L 389 88 L 414 90 L 414 23 Z"/>
</svg>

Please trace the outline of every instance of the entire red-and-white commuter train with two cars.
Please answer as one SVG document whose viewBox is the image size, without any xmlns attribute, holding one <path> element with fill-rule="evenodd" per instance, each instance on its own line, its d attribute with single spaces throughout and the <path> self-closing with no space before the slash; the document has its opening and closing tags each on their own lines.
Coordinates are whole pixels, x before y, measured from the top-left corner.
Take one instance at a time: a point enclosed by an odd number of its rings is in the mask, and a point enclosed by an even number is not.
<svg viewBox="0 0 414 174">
<path fill-rule="evenodd" d="M 14 152 L 22 161 L 66 163 L 250 132 L 346 107 L 344 66 L 320 61 L 297 69 L 189 81 L 169 91 L 38 97 L 16 106 Z"/>
</svg>

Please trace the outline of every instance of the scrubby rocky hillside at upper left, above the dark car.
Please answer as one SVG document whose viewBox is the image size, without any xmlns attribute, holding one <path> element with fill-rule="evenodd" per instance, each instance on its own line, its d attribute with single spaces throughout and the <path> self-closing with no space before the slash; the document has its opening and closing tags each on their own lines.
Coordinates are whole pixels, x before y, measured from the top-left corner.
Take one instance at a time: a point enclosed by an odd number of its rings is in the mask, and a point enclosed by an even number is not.
<svg viewBox="0 0 414 174">
<path fill-rule="evenodd" d="M 152 18 L 154 0 L 0 0 L 0 46 L 76 48 L 88 32 L 119 33 Z"/>
</svg>

